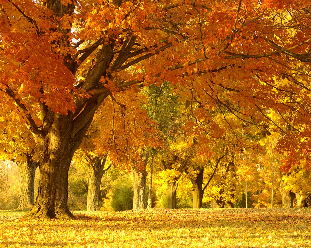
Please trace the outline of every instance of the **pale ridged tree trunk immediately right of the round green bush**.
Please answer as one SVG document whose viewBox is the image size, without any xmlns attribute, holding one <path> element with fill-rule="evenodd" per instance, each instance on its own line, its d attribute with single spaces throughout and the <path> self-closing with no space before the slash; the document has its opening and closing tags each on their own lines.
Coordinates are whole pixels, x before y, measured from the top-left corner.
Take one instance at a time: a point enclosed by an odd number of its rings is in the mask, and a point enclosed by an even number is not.
<svg viewBox="0 0 311 248">
<path fill-rule="evenodd" d="M 149 152 L 144 151 L 142 153 L 142 161 L 145 163 L 145 168 L 148 163 Z M 147 171 L 133 171 L 134 175 L 134 197 L 133 197 L 133 209 L 145 208 L 145 191 L 146 191 L 146 178 Z"/>
</svg>

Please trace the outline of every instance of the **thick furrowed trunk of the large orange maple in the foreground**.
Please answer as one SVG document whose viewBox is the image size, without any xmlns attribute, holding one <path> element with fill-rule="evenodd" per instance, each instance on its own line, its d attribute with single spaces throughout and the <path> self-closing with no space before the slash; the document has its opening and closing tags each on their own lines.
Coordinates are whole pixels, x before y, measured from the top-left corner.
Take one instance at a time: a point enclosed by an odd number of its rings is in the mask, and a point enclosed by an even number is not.
<svg viewBox="0 0 311 248">
<path fill-rule="evenodd" d="M 73 154 L 81 144 L 92 118 L 75 134 L 70 132 L 68 118 L 58 115 L 48 131 L 34 135 L 39 157 L 40 179 L 35 204 L 26 216 L 74 219 L 67 206 L 68 170 Z"/>
</svg>

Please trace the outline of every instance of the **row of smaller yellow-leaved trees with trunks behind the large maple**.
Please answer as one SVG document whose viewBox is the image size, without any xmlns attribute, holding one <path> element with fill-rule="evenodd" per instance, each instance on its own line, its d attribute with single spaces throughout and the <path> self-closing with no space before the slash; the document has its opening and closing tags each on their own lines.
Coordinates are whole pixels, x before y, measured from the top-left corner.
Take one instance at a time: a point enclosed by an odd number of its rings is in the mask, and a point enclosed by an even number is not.
<svg viewBox="0 0 311 248">
<path fill-rule="evenodd" d="M 192 183 L 193 208 L 203 206 L 204 191 L 211 185 L 212 187 L 208 188 L 208 195 L 214 199 L 216 206 L 224 207 L 227 204 L 234 207 L 237 200 L 236 196 L 241 196 L 240 189 L 237 189 L 241 186 L 241 179 L 244 180 L 246 185 L 248 184 L 248 187 L 252 188 L 251 192 L 253 194 L 262 195 L 258 200 L 264 202 L 264 204 L 257 204 L 257 206 L 267 206 L 267 198 L 269 198 L 267 197 L 267 188 L 272 189 L 273 197 L 273 186 L 279 188 L 280 185 L 281 188 L 277 189 L 277 191 L 281 192 L 283 207 L 292 207 L 295 195 L 297 198 L 296 206 L 306 206 L 311 193 L 309 172 L 304 169 L 305 164 L 293 167 L 291 172 L 281 171 L 285 156 L 276 153 L 280 135 L 273 133 L 264 137 L 262 132 L 256 128 L 240 128 L 234 132 L 234 135 L 239 135 L 240 140 L 244 139 L 246 145 L 242 150 L 239 148 L 237 151 L 231 142 L 233 138 L 227 132 L 220 138 L 215 137 L 213 146 L 206 145 L 205 149 L 209 147 L 212 155 L 203 157 L 199 154 L 200 149 L 194 144 L 195 137 L 185 136 L 182 129 L 185 120 L 193 118 L 189 115 L 191 113 L 188 111 L 189 106 L 187 106 L 189 102 L 186 100 L 183 104 L 178 101 L 179 95 L 170 92 L 171 86 L 168 82 L 158 87 L 149 86 L 140 92 L 141 95 L 147 95 L 147 102 L 141 108 L 146 110 L 147 115 L 153 121 L 156 121 L 148 125 L 156 125 L 156 134 L 160 137 L 158 137 L 157 141 L 166 144 L 162 147 L 148 148 L 144 146 L 142 148 L 141 146 L 145 143 L 130 145 L 127 141 L 128 148 L 125 148 L 124 141 L 120 142 L 119 139 L 123 140 L 126 135 L 120 135 L 119 132 L 120 138 L 114 138 L 114 143 L 118 144 L 118 147 L 123 144 L 123 149 L 119 148 L 110 151 L 110 159 L 107 162 L 108 152 L 103 154 L 102 144 L 99 143 L 100 149 L 98 149 L 99 145 L 96 143 L 99 142 L 97 139 L 99 125 L 97 123 L 91 125 L 90 133 L 87 133 L 74 156 L 74 161 L 81 164 L 88 171 L 87 179 L 80 182 L 86 188 L 87 210 L 100 210 L 99 201 L 102 197 L 105 197 L 105 194 L 100 191 L 102 176 L 112 165 L 121 169 L 127 166 L 127 169 L 132 171 L 134 182 L 133 209 L 144 208 L 148 161 L 150 192 L 149 203 L 146 206 L 152 205 L 153 169 L 159 173 L 157 177 L 160 177 L 162 182 L 167 184 L 166 201 L 168 208 L 176 207 L 176 190 L 179 179 L 185 176 Z M 120 106 L 120 112 L 122 108 L 123 106 Z M 214 114 L 217 116 L 217 111 Z M 122 112 L 121 115 L 126 118 Z M 129 124 L 130 120 L 127 119 L 125 124 L 122 118 L 115 119 L 114 124 L 118 123 L 123 123 L 126 127 L 131 125 Z M 139 129 L 136 128 L 135 131 L 137 130 Z M 141 133 L 139 135 L 143 138 L 145 134 Z M 233 134 L 231 133 L 231 135 Z M 4 139 L 4 141 L 7 142 L 7 139 Z M 15 146 L 16 142 L 13 142 L 12 149 Z M 136 147 L 135 153 L 132 151 L 133 147 Z M 18 154 L 13 154 L 18 157 Z M 135 160 L 137 159 L 136 154 L 140 156 L 140 162 Z M 114 163 L 113 157 L 119 157 L 120 161 L 124 161 L 124 164 Z M 302 160 L 301 163 L 305 163 L 305 160 Z M 21 173 L 19 208 L 29 208 L 34 202 L 33 185 L 37 163 L 33 162 L 32 157 L 28 155 L 25 162 L 17 162 L 17 164 Z M 253 186 L 252 181 L 256 182 L 253 183 Z M 247 194 L 248 191 L 246 189 L 245 193 Z M 269 201 L 272 204 L 273 198 Z"/>
</svg>

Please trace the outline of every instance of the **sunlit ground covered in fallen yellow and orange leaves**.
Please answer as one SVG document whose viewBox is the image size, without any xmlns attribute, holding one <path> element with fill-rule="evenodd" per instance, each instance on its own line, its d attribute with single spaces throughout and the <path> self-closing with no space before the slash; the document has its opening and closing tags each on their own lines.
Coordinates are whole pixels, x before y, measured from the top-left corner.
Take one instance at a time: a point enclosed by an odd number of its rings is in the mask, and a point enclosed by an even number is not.
<svg viewBox="0 0 311 248">
<path fill-rule="evenodd" d="M 0 247 L 311 247 L 311 209 L 24 213 L 0 211 Z"/>
</svg>

